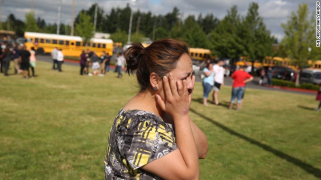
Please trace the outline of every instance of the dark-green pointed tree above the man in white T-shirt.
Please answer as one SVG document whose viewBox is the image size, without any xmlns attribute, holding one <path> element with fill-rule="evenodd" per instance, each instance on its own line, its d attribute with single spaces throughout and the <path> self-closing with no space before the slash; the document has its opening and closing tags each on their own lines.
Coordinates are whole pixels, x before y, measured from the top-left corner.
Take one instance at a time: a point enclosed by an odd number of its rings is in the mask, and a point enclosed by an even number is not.
<svg viewBox="0 0 321 180">
<path fill-rule="evenodd" d="M 239 33 L 241 18 L 234 5 L 209 35 L 212 51 L 219 57 L 238 59 L 244 55 L 244 42 Z"/>
</svg>

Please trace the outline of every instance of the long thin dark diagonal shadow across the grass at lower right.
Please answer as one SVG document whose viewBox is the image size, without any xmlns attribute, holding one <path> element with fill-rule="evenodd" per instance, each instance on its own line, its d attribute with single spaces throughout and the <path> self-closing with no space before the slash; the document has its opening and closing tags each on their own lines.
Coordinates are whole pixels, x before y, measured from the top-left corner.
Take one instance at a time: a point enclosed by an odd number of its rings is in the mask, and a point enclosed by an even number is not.
<svg viewBox="0 0 321 180">
<path fill-rule="evenodd" d="M 314 175 L 315 177 L 321 178 L 321 170 L 320 169 L 318 169 L 318 168 L 316 168 L 316 167 L 314 167 L 314 166 L 312 166 L 312 165 L 310 165 L 308 163 L 305 163 L 305 162 L 303 162 L 302 160 L 300 160 L 298 158 L 295 158 L 295 157 L 290 156 L 290 155 L 288 155 L 288 154 L 286 154 L 284 152 L 281 152 L 281 151 L 279 151 L 277 149 L 274 149 L 271 146 L 263 144 L 263 143 L 255 140 L 253 138 L 250 138 L 250 137 L 248 137 L 246 135 L 243 135 L 243 134 L 241 134 L 241 133 L 239 133 L 237 131 L 234 131 L 233 129 L 230 129 L 229 127 L 221 124 L 220 122 L 217 122 L 217 121 L 211 119 L 210 117 L 207 117 L 207 116 L 195 111 L 193 108 L 191 108 L 190 111 L 192 111 L 193 113 L 199 115 L 200 117 L 203 117 L 204 119 L 206 119 L 209 122 L 213 123 L 217 127 L 219 127 L 221 129 L 231 133 L 232 135 L 238 136 L 241 139 L 244 139 L 244 140 L 246 140 L 246 141 L 248 141 L 248 142 L 250 142 L 250 143 L 252 143 L 254 145 L 257 145 L 257 146 L 263 148 L 264 150 L 269 151 L 269 152 L 273 153 L 274 155 L 276 155 L 276 156 L 278 156 L 278 157 L 280 157 L 282 159 L 285 159 L 288 162 L 291 162 L 292 164 L 302 168 L 303 170 L 307 171 L 308 173 Z"/>
</svg>

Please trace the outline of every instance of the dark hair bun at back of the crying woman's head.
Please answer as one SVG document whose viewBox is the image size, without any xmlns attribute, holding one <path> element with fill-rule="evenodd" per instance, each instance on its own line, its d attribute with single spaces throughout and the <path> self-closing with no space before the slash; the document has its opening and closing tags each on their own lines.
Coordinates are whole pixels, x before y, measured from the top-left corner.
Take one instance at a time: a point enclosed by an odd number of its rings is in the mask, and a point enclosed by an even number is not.
<svg viewBox="0 0 321 180">
<path fill-rule="evenodd" d="M 144 54 L 145 47 L 141 43 L 132 43 L 124 52 L 127 64 L 127 72 L 133 72 L 138 68 L 139 62 Z"/>
</svg>

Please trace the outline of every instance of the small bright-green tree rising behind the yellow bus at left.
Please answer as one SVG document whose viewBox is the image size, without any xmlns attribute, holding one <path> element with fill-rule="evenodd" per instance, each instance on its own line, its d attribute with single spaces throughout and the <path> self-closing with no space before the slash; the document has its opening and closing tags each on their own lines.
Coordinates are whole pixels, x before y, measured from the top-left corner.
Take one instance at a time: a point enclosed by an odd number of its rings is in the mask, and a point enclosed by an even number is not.
<svg viewBox="0 0 321 180">
<path fill-rule="evenodd" d="M 83 41 L 89 42 L 93 36 L 93 23 L 90 21 L 91 17 L 86 12 L 79 14 L 79 22 L 75 26 L 75 35 L 79 35 L 83 38 Z"/>
</svg>

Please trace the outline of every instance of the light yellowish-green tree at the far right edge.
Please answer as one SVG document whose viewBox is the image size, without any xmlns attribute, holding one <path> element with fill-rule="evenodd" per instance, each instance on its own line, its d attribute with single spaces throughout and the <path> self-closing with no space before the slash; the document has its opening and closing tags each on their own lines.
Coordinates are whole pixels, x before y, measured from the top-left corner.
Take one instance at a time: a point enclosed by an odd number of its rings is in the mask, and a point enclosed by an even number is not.
<svg viewBox="0 0 321 180">
<path fill-rule="evenodd" d="M 295 59 L 300 66 L 307 64 L 307 59 L 315 58 L 320 50 L 315 46 L 316 21 L 312 13 L 308 19 L 308 6 L 306 3 L 299 4 L 297 13 L 292 11 L 286 23 L 282 23 L 284 37 L 281 41 L 282 49 L 291 59 Z M 311 48 L 311 54 L 308 51 Z"/>
</svg>

